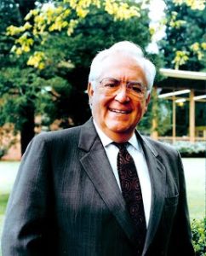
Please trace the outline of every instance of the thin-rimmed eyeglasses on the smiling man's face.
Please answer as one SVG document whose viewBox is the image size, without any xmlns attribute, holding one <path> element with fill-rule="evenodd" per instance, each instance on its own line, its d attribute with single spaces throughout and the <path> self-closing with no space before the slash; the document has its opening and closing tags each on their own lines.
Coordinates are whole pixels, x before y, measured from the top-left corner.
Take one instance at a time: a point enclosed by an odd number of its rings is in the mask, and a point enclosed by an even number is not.
<svg viewBox="0 0 206 256">
<path fill-rule="evenodd" d="M 100 81 L 101 88 L 105 91 L 106 94 L 116 93 L 117 90 L 121 88 L 122 80 L 106 78 Z M 138 81 L 128 81 L 126 83 L 126 88 L 132 96 L 135 98 L 141 99 L 145 96 L 146 91 L 149 91 L 145 85 L 141 84 Z"/>
</svg>

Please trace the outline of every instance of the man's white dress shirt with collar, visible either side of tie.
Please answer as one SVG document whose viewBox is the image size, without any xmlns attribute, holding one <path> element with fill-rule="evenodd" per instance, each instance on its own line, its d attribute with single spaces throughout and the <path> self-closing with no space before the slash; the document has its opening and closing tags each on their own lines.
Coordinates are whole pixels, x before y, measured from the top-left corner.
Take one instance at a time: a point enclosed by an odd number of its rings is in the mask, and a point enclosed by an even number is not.
<svg viewBox="0 0 206 256">
<path fill-rule="evenodd" d="M 94 121 L 94 126 L 100 137 L 100 141 L 106 150 L 106 155 L 108 157 L 110 165 L 112 166 L 112 171 L 114 172 L 114 176 L 117 179 L 117 184 L 119 186 L 119 189 L 121 189 L 118 171 L 117 171 L 117 154 L 118 154 L 119 148 L 117 148 L 114 144 L 112 144 L 113 143 L 112 139 L 107 137 L 106 134 L 100 130 L 100 127 L 95 123 L 95 121 Z M 129 151 L 129 154 L 131 154 L 134 159 L 134 164 L 136 166 L 138 177 L 140 179 L 140 187 L 141 187 L 144 210 L 146 215 L 146 226 L 148 226 L 149 218 L 150 218 L 150 209 L 151 209 L 151 198 L 152 198 L 151 180 L 150 180 L 148 168 L 146 165 L 146 158 L 145 158 L 143 149 L 141 148 L 140 143 L 138 143 L 138 140 L 135 134 L 129 139 L 129 145 L 127 146 L 127 150 Z"/>
</svg>

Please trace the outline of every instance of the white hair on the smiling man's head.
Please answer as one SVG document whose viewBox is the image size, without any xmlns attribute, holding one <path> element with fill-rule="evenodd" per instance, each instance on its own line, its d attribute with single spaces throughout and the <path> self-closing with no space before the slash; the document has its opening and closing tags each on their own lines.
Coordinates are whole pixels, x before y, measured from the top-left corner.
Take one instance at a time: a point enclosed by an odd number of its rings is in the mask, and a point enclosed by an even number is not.
<svg viewBox="0 0 206 256">
<path fill-rule="evenodd" d="M 95 82 L 100 78 L 100 74 L 102 72 L 102 61 L 113 54 L 121 54 L 134 59 L 134 61 L 136 61 L 145 72 L 148 90 L 152 90 L 152 85 L 156 75 L 156 68 L 151 61 L 146 59 L 140 46 L 129 41 L 122 41 L 117 44 L 113 44 L 112 47 L 100 51 L 94 57 L 89 73 L 89 82 L 92 86 L 95 86 Z"/>
</svg>

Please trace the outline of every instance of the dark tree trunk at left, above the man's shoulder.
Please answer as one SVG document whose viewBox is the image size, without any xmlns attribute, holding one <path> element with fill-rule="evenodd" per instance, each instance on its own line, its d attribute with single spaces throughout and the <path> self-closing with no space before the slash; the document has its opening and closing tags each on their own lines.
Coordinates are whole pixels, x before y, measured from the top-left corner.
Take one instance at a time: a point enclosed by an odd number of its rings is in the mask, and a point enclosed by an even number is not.
<svg viewBox="0 0 206 256">
<path fill-rule="evenodd" d="M 28 143 L 31 142 L 32 137 L 34 137 L 34 127 L 35 127 L 35 120 L 34 120 L 34 106 L 26 106 L 26 121 L 21 126 L 20 130 L 20 146 L 21 146 L 21 154 L 25 153 L 26 147 Z"/>
</svg>

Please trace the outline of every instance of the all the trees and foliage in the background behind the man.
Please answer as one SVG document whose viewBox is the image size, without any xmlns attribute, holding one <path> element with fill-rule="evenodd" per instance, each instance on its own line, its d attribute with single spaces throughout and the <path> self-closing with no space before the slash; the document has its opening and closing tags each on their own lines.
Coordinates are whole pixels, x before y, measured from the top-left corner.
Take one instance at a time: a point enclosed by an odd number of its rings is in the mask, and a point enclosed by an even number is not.
<svg viewBox="0 0 206 256">
<path fill-rule="evenodd" d="M 90 62 L 96 52 L 119 40 L 140 44 L 157 69 L 165 66 L 203 71 L 205 3 L 165 0 L 165 16 L 152 25 L 150 2 L 0 2 L 0 130 L 11 123 L 14 133 L 20 131 L 22 153 L 35 135 L 35 126 L 49 130 L 58 121 L 60 128 L 66 128 L 89 118 L 85 90 Z M 163 27 L 165 36 L 157 42 L 158 53 L 147 52 L 146 47 Z M 157 73 L 156 84 L 161 79 Z M 42 118 L 36 124 L 34 117 L 38 114 Z M 157 96 L 152 97 L 140 131 L 151 133 L 153 117 L 157 118 L 160 135 L 171 130 L 169 104 L 157 100 Z M 7 147 L 0 149 L 3 152 Z"/>
</svg>

